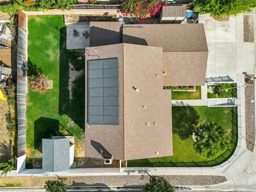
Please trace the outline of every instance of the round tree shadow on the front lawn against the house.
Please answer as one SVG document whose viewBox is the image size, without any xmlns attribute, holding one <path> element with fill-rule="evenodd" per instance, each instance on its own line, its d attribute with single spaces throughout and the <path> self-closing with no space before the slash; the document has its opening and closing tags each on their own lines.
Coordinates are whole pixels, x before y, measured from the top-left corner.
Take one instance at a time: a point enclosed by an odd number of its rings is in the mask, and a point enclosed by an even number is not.
<svg viewBox="0 0 256 192">
<path fill-rule="evenodd" d="M 199 115 L 193 107 L 172 107 L 172 131 L 177 133 L 181 140 L 185 140 L 193 134 L 198 120 Z"/>
</svg>

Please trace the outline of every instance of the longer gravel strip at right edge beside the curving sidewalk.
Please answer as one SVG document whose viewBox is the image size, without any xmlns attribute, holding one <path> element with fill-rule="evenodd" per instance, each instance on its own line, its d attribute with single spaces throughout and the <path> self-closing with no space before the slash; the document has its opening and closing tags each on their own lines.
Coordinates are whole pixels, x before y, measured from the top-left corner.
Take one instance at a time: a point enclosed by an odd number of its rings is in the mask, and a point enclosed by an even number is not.
<svg viewBox="0 0 256 192">
<path fill-rule="evenodd" d="M 253 75 L 248 75 L 254 77 Z M 245 78 L 245 137 L 246 148 L 253 152 L 255 142 L 255 101 L 254 101 L 254 82 L 247 83 L 248 76 Z"/>
</svg>

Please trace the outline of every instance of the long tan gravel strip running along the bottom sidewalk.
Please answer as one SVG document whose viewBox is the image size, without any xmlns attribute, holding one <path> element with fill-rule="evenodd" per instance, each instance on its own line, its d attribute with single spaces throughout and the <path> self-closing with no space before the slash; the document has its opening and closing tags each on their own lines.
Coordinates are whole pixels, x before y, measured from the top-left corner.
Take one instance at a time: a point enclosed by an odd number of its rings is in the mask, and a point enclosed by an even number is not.
<svg viewBox="0 0 256 192">
<path fill-rule="evenodd" d="M 227 181 L 222 176 L 211 175 L 164 175 L 175 186 L 209 186 Z M 149 175 L 121 175 L 121 176 L 60 176 L 68 186 L 133 186 L 145 185 Z M 23 176 L 2 177 L 0 186 L 8 183 L 22 187 L 44 186 L 47 180 L 58 180 L 57 176 Z"/>
</svg>

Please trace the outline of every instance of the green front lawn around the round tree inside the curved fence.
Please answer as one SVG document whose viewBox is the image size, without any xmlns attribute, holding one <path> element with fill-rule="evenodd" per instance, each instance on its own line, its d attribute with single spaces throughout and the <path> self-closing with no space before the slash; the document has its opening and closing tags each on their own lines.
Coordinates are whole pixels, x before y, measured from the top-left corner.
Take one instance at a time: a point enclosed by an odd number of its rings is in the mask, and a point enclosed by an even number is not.
<svg viewBox="0 0 256 192">
<path fill-rule="evenodd" d="M 237 136 L 234 135 L 237 134 L 236 111 L 236 107 L 172 107 L 173 156 L 128 161 L 128 166 L 207 166 L 204 161 L 215 158 L 218 158 L 217 162 L 212 161 L 209 164 L 223 162 L 233 153 L 236 146 Z M 213 158 L 206 158 L 196 153 L 191 130 L 205 121 L 215 122 L 228 130 L 230 141 L 233 136 L 234 142 L 231 149 L 222 150 Z M 222 157 L 224 153 L 225 157 Z"/>
</svg>

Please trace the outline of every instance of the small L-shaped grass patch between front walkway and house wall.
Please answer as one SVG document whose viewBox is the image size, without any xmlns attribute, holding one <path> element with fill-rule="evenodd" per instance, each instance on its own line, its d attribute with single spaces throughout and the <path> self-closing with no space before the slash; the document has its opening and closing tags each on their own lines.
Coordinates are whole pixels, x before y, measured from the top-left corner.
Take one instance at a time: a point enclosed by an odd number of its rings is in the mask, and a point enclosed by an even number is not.
<svg viewBox="0 0 256 192">
<path fill-rule="evenodd" d="M 172 100 L 201 99 L 201 86 L 196 86 L 195 92 L 172 91 Z"/>
</svg>

